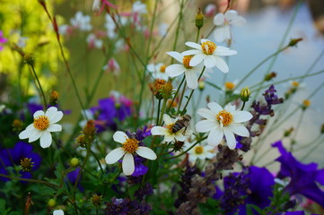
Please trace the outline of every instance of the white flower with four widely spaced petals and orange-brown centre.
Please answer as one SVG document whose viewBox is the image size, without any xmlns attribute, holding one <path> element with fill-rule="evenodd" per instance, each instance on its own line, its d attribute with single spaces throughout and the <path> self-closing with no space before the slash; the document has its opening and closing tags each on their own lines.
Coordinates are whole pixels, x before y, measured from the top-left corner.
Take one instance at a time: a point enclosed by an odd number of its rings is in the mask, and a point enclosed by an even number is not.
<svg viewBox="0 0 324 215">
<path fill-rule="evenodd" d="M 134 138 L 129 138 L 126 133 L 116 132 L 112 138 L 115 142 L 119 142 L 123 146 L 115 150 L 111 150 L 105 158 L 106 163 L 113 164 L 124 157 L 122 161 L 122 168 L 126 176 L 132 175 L 135 171 L 133 157 L 135 152 L 144 159 L 156 159 L 156 154 L 153 150 L 144 146 L 138 146 L 139 141 Z"/>
</svg>

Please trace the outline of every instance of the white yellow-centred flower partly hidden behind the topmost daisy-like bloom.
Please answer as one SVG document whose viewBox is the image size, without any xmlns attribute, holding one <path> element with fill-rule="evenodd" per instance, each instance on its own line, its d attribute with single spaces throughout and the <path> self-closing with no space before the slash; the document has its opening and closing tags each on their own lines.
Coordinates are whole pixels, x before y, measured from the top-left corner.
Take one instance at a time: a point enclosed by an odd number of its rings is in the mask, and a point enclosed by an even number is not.
<svg viewBox="0 0 324 215">
<path fill-rule="evenodd" d="M 193 56 L 183 56 L 179 52 L 171 51 L 167 52 L 169 56 L 172 56 L 180 64 L 171 64 L 165 68 L 165 73 L 167 73 L 171 78 L 185 73 L 186 82 L 188 88 L 196 89 L 197 88 L 197 73 L 201 73 L 203 66 L 202 64 L 197 64 L 196 66 L 190 66 L 189 63 Z"/>
</svg>

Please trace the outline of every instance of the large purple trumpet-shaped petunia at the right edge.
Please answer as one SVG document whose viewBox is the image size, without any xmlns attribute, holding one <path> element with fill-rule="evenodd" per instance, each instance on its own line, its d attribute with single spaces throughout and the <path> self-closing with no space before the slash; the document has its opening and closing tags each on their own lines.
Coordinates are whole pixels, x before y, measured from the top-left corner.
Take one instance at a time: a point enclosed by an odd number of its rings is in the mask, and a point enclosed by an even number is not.
<svg viewBox="0 0 324 215">
<path fill-rule="evenodd" d="M 291 181 L 285 187 L 285 190 L 291 195 L 302 194 L 324 207 L 324 192 L 316 184 L 318 182 L 320 185 L 324 185 L 324 169 L 317 169 L 318 165 L 316 163 L 303 164 L 293 158 L 293 154 L 285 150 L 281 141 L 275 142 L 272 146 L 278 148 L 281 154 L 276 159 L 281 163 L 277 177 L 280 179 L 287 176 L 291 177 Z"/>
</svg>

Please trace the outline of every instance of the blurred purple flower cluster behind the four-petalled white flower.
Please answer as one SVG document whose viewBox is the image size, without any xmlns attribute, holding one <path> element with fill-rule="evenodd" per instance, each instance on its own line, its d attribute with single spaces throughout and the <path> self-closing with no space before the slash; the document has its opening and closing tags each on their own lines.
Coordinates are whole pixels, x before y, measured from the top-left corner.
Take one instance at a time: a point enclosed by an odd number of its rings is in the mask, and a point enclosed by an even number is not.
<svg viewBox="0 0 324 215">
<path fill-rule="evenodd" d="M 124 121 L 132 113 L 132 101 L 124 96 L 111 96 L 107 99 L 100 99 L 98 106 L 90 108 L 97 127 L 101 133 L 107 129 L 118 130 L 118 123 Z"/>
</svg>

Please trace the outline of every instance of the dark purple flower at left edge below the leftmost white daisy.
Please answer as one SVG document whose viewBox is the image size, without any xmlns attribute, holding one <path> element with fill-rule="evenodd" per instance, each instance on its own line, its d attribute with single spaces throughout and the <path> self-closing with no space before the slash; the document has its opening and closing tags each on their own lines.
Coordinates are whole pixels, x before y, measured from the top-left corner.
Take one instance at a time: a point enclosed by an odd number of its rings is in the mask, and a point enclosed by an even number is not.
<svg viewBox="0 0 324 215">
<path fill-rule="evenodd" d="M 0 150 L 0 173 L 8 175 L 6 170 L 7 167 L 13 167 L 15 165 L 20 166 L 22 159 L 31 159 L 33 166 L 31 171 L 35 171 L 40 166 L 41 158 L 39 154 L 32 151 L 32 145 L 26 142 L 17 142 L 12 149 L 2 149 Z M 20 171 L 22 178 L 31 178 L 31 172 Z M 8 181 L 10 179 L 6 177 L 0 177 L 3 181 Z"/>
</svg>

